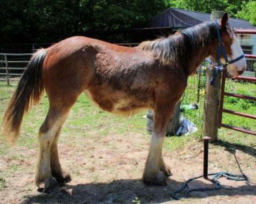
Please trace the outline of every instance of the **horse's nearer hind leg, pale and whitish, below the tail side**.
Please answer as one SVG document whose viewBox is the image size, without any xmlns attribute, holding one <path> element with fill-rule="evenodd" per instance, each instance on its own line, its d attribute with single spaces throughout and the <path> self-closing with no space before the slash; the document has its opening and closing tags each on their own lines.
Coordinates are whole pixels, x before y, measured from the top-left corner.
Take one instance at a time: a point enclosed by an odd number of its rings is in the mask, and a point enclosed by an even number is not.
<svg viewBox="0 0 256 204">
<path fill-rule="evenodd" d="M 49 108 L 47 117 L 39 130 L 39 152 L 38 166 L 35 176 L 37 186 L 44 182 L 44 192 L 47 192 L 56 185 L 55 179 L 52 177 L 51 171 L 51 145 L 55 139 L 55 135 L 61 125 L 67 118 L 70 108 Z"/>
</svg>

